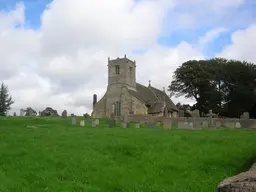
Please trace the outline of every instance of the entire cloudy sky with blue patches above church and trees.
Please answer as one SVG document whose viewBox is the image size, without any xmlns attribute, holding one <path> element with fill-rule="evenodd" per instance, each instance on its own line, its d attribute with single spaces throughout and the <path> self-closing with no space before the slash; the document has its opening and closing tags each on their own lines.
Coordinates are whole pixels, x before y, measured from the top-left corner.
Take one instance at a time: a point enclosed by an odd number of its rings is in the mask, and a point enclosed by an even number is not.
<svg viewBox="0 0 256 192">
<path fill-rule="evenodd" d="M 136 60 L 137 82 L 163 89 L 192 59 L 256 63 L 255 0 L 0 0 L 0 81 L 13 112 L 91 113 L 108 57 Z M 174 103 L 192 99 L 172 97 Z"/>
</svg>

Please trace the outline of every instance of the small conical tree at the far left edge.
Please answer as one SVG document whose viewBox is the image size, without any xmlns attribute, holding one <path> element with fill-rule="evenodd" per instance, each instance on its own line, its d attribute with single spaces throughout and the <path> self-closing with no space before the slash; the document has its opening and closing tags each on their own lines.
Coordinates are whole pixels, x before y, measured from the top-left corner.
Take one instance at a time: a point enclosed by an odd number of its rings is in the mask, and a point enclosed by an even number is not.
<svg viewBox="0 0 256 192">
<path fill-rule="evenodd" d="M 8 87 L 2 83 L 0 87 L 0 116 L 6 116 L 13 103 Z"/>
</svg>

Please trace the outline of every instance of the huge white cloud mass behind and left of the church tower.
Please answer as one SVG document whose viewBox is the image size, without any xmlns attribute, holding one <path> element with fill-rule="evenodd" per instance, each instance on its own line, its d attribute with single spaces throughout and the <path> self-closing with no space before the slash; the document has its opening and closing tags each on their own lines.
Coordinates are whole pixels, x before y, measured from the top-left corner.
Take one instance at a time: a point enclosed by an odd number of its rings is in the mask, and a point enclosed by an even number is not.
<svg viewBox="0 0 256 192">
<path fill-rule="evenodd" d="M 15 100 L 13 110 L 50 106 L 59 113 L 89 113 L 92 95 L 100 98 L 106 90 L 108 57 L 125 53 L 137 62 L 138 82 L 147 85 L 151 79 L 153 86 L 167 88 L 182 62 L 204 57 L 187 42 L 177 47 L 157 43 L 166 14 L 176 5 L 171 0 L 55 0 L 38 30 L 22 27 L 21 4 L 1 13 L 0 77 Z M 184 27 L 193 22 L 180 18 Z M 146 52 L 132 54 L 140 49 Z"/>
</svg>

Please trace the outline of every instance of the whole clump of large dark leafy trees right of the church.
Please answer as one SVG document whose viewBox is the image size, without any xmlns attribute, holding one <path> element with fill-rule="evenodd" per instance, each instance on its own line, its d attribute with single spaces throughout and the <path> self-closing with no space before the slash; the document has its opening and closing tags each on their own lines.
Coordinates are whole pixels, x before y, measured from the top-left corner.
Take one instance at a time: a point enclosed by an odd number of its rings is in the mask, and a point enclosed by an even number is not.
<svg viewBox="0 0 256 192">
<path fill-rule="evenodd" d="M 196 100 L 193 108 L 239 117 L 256 104 L 256 66 L 215 58 L 187 61 L 175 72 L 169 91 Z"/>
</svg>

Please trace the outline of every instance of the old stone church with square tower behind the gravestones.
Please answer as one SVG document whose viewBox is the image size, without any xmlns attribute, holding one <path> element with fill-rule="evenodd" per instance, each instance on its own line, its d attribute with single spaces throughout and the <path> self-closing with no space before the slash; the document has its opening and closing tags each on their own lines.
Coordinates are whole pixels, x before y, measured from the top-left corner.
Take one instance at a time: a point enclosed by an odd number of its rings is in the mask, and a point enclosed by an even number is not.
<svg viewBox="0 0 256 192">
<path fill-rule="evenodd" d="M 97 101 L 93 95 L 94 118 L 124 115 L 177 117 L 178 109 L 165 93 L 136 82 L 136 62 L 124 58 L 108 58 L 108 86 L 104 96 Z"/>
</svg>

